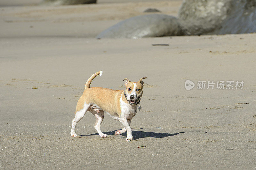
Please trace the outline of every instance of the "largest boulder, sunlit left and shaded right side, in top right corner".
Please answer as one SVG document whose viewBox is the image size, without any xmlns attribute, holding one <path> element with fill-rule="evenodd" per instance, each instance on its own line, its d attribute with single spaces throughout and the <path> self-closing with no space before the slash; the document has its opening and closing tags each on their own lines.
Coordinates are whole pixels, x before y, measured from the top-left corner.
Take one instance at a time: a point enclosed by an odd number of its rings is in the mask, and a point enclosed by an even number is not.
<svg viewBox="0 0 256 170">
<path fill-rule="evenodd" d="M 178 14 L 186 35 L 256 31 L 256 0 L 184 0 Z"/>
</svg>

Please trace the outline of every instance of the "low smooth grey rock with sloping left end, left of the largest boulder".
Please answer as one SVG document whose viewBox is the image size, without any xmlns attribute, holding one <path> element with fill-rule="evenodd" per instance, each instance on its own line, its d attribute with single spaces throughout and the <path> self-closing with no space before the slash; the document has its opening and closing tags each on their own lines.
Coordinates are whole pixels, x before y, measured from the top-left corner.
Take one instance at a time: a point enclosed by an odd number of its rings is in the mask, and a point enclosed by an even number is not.
<svg viewBox="0 0 256 170">
<path fill-rule="evenodd" d="M 97 38 L 142 38 L 183 35 L 177 18 L 164 14 L 125 19 L 101 32 Z"/>
</svg>

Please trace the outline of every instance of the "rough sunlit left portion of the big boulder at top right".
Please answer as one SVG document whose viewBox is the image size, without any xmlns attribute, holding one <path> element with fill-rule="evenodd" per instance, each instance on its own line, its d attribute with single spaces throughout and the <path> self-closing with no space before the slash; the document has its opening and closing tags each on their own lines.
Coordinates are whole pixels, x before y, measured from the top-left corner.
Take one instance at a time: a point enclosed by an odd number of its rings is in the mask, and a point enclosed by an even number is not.
<svg viewBox="0 0 256 170">
<path fill-rule="evenodd" d="M 231 11 L 232 0 L 184 0 L 178 18 L 186 35 L 200 35 L 219 29 Z"/>
</svg>

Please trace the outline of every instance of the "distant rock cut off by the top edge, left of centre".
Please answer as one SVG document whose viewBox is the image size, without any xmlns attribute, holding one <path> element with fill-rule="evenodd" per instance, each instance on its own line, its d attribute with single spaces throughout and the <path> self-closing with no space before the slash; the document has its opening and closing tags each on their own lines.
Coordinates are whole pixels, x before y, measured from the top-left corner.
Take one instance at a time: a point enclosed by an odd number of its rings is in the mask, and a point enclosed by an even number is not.
<svg viewBox="0 0 256 170">
<path fill-rule="evenodd" d="M 75 4 L 95 4 L 97 0 L 43 0 L 40 5 L 75 5 Z"/>
</svg>

